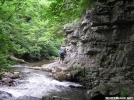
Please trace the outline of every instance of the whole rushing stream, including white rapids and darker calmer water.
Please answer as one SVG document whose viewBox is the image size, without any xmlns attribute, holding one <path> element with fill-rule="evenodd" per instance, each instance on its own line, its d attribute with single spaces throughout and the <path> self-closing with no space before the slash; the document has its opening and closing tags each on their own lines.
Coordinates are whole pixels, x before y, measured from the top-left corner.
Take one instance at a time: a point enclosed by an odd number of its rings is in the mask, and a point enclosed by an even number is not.
<svg viewBox="0 0 134 100">
<path fill-rule="evenodd" d="M 67 81 L 57 81 L 48 76 L 48 72 L 29 69 L 29 66 L 41 66 L 51 62 L 40 61 L 29 64 L 14 65 L 15 71 L 20 71 L 22 77 L 16 79 L 17 86 L 0 86 L 0 91 L 12 94 L 13 98 L 5 100 L 89 100 L 86 89 L 70 88 L 69 85 L 80 84 Z M 53 99 L 46 99 L 51 97 Z M 58 99 L 60 97 L 60 99 Z M 57 99 L 54 99 L 57 98 Z"/>
</svg>

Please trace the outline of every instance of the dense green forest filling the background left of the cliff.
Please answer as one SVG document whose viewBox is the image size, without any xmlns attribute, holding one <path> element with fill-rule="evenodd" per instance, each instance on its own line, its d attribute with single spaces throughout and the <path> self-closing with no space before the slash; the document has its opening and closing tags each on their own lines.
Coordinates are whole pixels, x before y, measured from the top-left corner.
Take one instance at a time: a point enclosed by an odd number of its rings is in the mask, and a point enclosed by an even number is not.
<svg viewBox="0 0 134 100">
<path fill-rule="evenodd" d="M 63 25 L 82 16 L 92 0 L 0 0 L 0 69 L 9 55 L 25 60 L 58 56 Z"/>
</svg>

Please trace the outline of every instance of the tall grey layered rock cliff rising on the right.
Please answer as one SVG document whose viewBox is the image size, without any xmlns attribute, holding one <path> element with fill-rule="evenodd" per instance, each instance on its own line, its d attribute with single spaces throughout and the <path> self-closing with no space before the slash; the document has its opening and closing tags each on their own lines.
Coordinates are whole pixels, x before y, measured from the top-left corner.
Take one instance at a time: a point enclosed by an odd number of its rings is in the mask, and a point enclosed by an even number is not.
<svg viewBox="0 0 134 100">
<path fill-rule="evenodd" d="M 65 27 L 66 65 L 85 68 L 87 84 L 134 84 L 134 0 L 98 0 L 77 29 Z"/>
</svg>

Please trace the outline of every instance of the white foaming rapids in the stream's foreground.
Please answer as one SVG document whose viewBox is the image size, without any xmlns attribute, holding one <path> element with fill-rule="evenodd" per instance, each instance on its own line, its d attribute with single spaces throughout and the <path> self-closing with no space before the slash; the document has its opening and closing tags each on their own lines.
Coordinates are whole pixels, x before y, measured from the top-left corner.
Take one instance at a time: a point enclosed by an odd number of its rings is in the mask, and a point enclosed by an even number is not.
<svg viewBox="0 0 134 100">
<path fill-rule="evenodd" d="M 31 96 L 41 98 L 51 92 L 69 91 L 69 85 L 79 84 L 72 82 L 60 82 L 47 76 L 46 72 L 32 70 L 24 65 L 15 65 L 15 69 L 20 70 L 22 78 L 17 79 L 17 86 L 0 86 L 0 91 L 11 93 L 14 97 Z"/>
</svg>

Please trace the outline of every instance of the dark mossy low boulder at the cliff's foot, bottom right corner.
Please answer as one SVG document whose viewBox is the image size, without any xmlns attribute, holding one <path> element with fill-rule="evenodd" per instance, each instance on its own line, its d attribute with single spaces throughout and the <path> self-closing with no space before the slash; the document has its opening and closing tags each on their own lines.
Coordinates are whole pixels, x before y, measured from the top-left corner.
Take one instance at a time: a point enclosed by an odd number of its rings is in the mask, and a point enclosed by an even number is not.
<svg viewBox="0 0 134 100">
<path fill-rule="evenodd" d="M 124 91 L 126 91 L 127 95 L 131 95 L 129 86 L 118 83 L 103 83 L 87 91 L 87 94 L 92 100 L 98 100 L 97 98 L 104 100 L 104 97 L 120 96 Z"/>
</svg>

